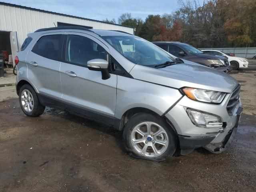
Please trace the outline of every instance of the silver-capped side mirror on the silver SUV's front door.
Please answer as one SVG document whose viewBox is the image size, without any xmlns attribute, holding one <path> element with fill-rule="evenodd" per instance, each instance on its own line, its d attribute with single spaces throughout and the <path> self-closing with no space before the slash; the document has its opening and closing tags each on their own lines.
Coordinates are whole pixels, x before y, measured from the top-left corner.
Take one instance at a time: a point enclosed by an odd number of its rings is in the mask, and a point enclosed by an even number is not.
<svg viewBox="0 0 256 192">
<path fill-rule="evenodd" d="M 101 71 L 103 80 L 110 78 L 110 74 L 108 72 L 108 61 L 104 59 L 92 59 L 87 62 L 87 67 L 92 71 Z"/>
</svg>

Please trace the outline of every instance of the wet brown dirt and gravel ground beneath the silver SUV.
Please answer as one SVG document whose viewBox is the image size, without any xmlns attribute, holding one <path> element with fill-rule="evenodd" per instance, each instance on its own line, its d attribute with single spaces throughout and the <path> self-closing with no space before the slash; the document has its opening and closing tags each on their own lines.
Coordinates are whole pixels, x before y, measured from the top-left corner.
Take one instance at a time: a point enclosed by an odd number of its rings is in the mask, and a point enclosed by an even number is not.
<svg viewBox="0 0 256 192">
<path fill-rule="evenodd" d="M 256 71 L 231 74 L 244 113 L 229 150 L 204 148 L 164 162 L 126 154 L 121 133 L 60 110 L 36 118 L 15 87 L 0 88 L 0 191 L 256 191 Z"/>
</svg>

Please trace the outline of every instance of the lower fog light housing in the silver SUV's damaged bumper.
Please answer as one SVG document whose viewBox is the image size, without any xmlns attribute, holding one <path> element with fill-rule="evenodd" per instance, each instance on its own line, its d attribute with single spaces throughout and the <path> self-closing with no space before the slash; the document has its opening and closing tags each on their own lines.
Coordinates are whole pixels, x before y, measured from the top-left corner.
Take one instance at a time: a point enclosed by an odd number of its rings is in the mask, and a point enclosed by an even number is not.
<svg viewBox="0 0 256 192">
<path fill-rule="evenodd" d="M 187 113 L 192 123 L 196 126 L 204 126 L 205 128 L 222 128 L 222 121 L 218 116 L 194 109 L 187 109 Z"/>
</svg>

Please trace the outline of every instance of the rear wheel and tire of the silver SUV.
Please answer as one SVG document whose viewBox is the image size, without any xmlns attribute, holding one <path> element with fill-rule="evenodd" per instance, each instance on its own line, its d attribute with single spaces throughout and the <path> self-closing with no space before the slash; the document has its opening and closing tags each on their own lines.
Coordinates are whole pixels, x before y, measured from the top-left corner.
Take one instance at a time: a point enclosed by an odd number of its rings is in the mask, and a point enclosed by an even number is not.
<svg viewBox="0 0 256 192">
<path fill-rule="evenodd" d="M 40 104 L 35 90 L 29 84 L 20 88 L 19 100 L 20 107 L 27 116 L 37 117 L 44 113 L 45 106 Z"/>
</svg>

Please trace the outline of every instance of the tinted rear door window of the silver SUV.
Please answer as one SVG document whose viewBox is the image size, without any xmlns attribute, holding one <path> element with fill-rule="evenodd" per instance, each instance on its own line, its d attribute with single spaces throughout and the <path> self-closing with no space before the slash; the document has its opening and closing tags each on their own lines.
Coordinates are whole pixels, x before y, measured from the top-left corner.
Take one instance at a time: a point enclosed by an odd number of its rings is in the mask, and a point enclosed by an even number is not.
<svg viewBox="0 0 256 192">
<path fill-rule="evenodd" d="M 42 36 L 34 45 L 32 52 L 52 60 L 60 60 L 62 44 L 63 35 Z"/>
</svg>

